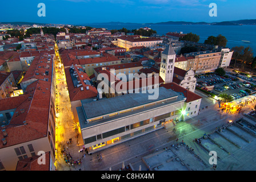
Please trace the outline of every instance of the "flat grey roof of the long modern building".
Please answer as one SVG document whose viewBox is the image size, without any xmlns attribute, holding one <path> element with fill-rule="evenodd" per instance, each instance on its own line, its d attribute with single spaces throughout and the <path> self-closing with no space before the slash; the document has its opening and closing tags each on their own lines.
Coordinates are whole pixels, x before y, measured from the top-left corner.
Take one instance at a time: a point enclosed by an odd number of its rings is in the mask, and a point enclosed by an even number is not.
<svg viewBox="0 0 256 182">
<path fill-rule="evenodd" d="M 177 97 L 178 93 L 173 90 L 168 90 L 166 88 L 159 88 L 159 97 L 155 100 L 149 100 L 149 96 L 153 94 L 149 93 L 134 93 L 125 94 L 123 96 L 108 98 L 106 100 L 94 101 L 87 104 L 83 104 L 83 109 L 87 119 L 99 117 L 102 115 L 115 113 L 117 111 L 122 111 L 130 109 L 133 107 L 150 104 L 152 102 L 157 102 L 161 100 L 166 100 L 167 98 Z"/>
</svg>

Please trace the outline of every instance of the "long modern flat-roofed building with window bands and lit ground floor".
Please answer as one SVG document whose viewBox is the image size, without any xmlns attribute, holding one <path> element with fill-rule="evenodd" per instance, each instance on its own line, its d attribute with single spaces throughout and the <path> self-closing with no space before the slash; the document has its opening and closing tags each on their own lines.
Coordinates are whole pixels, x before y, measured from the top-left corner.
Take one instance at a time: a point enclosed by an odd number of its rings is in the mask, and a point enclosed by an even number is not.
<svg viewBox="0 0 256 182">
<path fill-rule="evenodd" d="M 133 93 L 77 107 L 81 133 L 89 153 L 114 146 L 164 127 L 181 116 L 186 100 L 171 89 L 159 88 L 159 97 Z"/>
</svg>

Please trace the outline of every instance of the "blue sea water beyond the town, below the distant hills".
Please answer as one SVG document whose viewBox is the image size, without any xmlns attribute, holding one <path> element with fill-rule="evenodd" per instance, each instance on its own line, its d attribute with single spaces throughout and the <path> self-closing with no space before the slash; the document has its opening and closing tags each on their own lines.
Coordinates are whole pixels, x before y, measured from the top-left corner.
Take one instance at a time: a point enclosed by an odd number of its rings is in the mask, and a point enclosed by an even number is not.
<svg viewBox="0 0 256 182">
<path fill-rule="evenodd" d="M 204 43 L 209 36 L 223 35 L 227 39 L 228 48 L 235 46 L 250 46 L 256 56 L 256 26 L 213 26 L 213 25 L 169 25 L 169 24 L 87 24 L 95 28 L 107 28 L 107 30 L 127 28 L 128 30 L 149 27 L 157 31 L 158 35 L 165 35 L 167 32 L 192 32 L 200 37 L 199 43 Z M 246 41 L 246 42 L 243 42 Z M 249 41 L 249 43 L 247 42 Z"/>
</svg>

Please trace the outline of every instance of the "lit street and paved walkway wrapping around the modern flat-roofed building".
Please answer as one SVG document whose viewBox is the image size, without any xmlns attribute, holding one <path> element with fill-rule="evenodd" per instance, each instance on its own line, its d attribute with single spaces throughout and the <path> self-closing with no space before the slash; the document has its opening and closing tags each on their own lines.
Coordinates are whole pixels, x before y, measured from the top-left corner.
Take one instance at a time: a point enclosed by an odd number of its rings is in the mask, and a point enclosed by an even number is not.
<svg viewBox="0 0 256 182">
<path fill-rule="evenodd" d="M 58 48 L 56 49 L 58 50 Z M 59 171 L 117 171 L 122 167 L 131 165 L 135 171 L 141 166 L 142 171 L 147 168 L 142 162 L 142 157 L 152 152 L 162 150 L 162 148 L 175 143 L 175 140 L 184 140 L 186 144 L 194 147 L 193 139 L 202 136 L 204 133 L 211 133 L 217 127 L 225 125 L 230 120 L 235 121 L 242 117 L 241 114 L 228 114 L 218 111 L 218 104 L 213 98 L 205 96 L 201 92 L 201 107 L 208 106 L 208 109 L 201 110 L 197 117 L 191 118 L 185 122 L 175 123 L 175 126 L 167 129 L 160 129 L 152 133 L 142 135 L 141 137 L 117 144 L 116 146 L 106 148 L 105 150 L 95 152 L 88 155 L 85 152 L 79 152 L 83 146 L 81 130 L 78 123 L 74 122 L 74 116 L 71 112 L 71 104 L 69 91 L 67 88 L 65 71 L 61 60 L 59 60 L 58 51 L 56 51 L 56 79 L 57 79 L 57 118 L 56 118 L 56 162 L 55 166 Z M 243 108 L 247 112 L 251 110 L 253 105 Z M 175 131 L 173 130 L 175 127 Z M 71 143 L 70 143 L 70 139 Z M 153 146 L 149 150 L 149 146 Z M 65 149 L 65 151 L 64 151 Z M 199 148 L 195 148 L 198 155 L 203 152 Z M 85 156 L 83 156 L 86 154 Z M 97 156 L 102 155 L 99 161 Z M 71 156 L 75 161 L 73 165 L 70 161 L 65 161 L 65 156 Z M 70 158 L 69 158 L 70 159 Z"/>
</svg>

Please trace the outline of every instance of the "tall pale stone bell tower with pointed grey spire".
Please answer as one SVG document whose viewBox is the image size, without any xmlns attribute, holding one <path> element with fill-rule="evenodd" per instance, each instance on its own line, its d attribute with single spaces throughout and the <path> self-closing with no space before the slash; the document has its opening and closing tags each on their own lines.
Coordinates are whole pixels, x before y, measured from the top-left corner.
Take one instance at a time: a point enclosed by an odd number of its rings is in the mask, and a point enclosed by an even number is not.
<svg viewBox="0 0 256 182">
<path fill-rule="evenodd" d="M 165 84 L 173 82 L 175 58 L 176 53 L 169 44 L 169 46 L 165 48 L 165 51 L 162 52 L 159 72 L 159 76 L 165 81 Z"/>
</svg>

